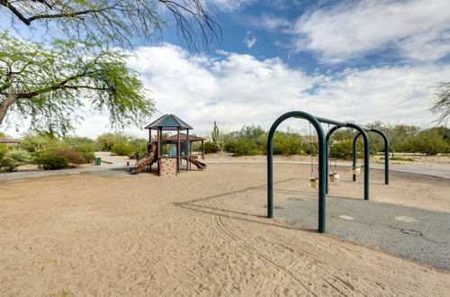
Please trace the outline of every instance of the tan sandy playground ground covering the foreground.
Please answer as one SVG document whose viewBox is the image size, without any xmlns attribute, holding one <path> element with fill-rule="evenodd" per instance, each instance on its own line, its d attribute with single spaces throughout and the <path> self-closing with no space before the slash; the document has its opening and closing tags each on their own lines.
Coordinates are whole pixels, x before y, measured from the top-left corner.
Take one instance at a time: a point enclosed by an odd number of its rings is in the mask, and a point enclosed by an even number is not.
<svg viewBox="0 0 450 297">
<path fill-rule="evenodd" d="M 275 165 L 275 205 L 313 193 L 309 167 Z M 374 201 L 450 211 L 450 183 L 374 170 Z M 361 199 L 341 171 L 330 194 Z M 266 166 L 173 179 L 60 175 L 0 184 L 0 295 L 448 296 L 450 274 L 266 219 Z M 292 195 L 292 194 L 291 194 Z"/>
</svg>

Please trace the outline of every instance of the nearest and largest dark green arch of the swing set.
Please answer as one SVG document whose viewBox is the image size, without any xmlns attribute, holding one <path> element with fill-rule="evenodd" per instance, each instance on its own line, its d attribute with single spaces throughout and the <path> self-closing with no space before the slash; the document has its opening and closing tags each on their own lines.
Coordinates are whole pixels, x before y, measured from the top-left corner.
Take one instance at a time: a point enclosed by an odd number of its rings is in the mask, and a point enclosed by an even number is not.
<svg viewBox="0 0 450 297">
<path fill-rule="evenodd" d="M 317 131 L 319 139 L 319 232 L 326 232 L 326 147 L 325 133 L 320 125 L 320 121 L 307 112 L 287 112 L 280 116 L 272 125 L 267 137 L 267 218 L 274 218 L 274 136 L 276 128 L 284 120 L 289 118 L 301 118 L 310 121 Z M 322 119 L 324 120 L 324 119 Z"/>
</svg>

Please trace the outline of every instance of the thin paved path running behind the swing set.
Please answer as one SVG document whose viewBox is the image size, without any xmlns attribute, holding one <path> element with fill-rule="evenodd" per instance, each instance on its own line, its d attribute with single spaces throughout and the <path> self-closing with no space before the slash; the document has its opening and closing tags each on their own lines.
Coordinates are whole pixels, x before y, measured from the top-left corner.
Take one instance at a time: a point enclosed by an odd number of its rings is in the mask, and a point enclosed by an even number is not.
<svg viewBox="0 0 450 297">
<path fill-rule="evenodd" d="M 266 164 L 266 161 L 258 160 L 204 160 L 206 164 Z M 310 165 L 309 162 L 299 161 L 274 161 L 275 164 L 302 164 Z M 316 164 L 316 163 L 315 163 Z M 317 164 L 316 164 L 317 165 Z M 352 166 L 351 163 L 338 163 L 338 166 Z M 371 169 L 384 169 L 382 164 L 371 164 Z M 390 171 L 409 172 L 418 175 L 431 175 L 450 179 L 449 167 L 431 167 L 431 166 L 405 166 L 405 165 L 390 165 Z"/>
</svg>

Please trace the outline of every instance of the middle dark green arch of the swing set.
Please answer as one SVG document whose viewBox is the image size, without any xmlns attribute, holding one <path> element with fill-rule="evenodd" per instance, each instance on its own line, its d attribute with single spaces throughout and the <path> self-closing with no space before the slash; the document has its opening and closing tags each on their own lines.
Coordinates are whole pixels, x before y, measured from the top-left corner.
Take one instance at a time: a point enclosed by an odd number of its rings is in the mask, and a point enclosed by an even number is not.
<svg viewBox="0 0 450 297">
<path fill-rule="evenodd" d="M 369 200 L 369 137 L 367 136 L 367 133 L 365 132 L 365 129 L 359 127 L 358 125 L 351 123 L 351 122 L 347 122 L 344 123 L 343 125 L 339 125 L 339 126 L 335 126 L 333 128 L 331 128 L 331 130 L 329 130 L 329 132 L 327 133 L 327 136 L 325 138 L 325 143 L 326 143 L 326 157 L 327 157 L 327 161 L 326 161 L 326 171 L 327 171 L 327 181 L 325 182 L 326 184 L 326 193 L 329 193 L 329 139 L 331 138 L 331 135 L 338 130 L 339 128 L 342 127 L 348 127 L 348 128 L 353 128 L 355 130 L 357 130 L 359 133 L 361 133 L 361 135 L 363 135 L 363 139 L 365 140 L 365 200 Z M 354 150 L 354 154 L 355 150 Z M 356 166 L 356 158 L 354 158 L 354 163 L 353 166 Z"/>
</svg>

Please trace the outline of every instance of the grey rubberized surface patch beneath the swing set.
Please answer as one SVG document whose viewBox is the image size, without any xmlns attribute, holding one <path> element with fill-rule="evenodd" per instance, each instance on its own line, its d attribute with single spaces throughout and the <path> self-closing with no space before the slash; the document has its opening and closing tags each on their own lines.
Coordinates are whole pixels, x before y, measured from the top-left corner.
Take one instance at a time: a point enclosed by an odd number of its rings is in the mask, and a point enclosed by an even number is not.
<svg viewBox="0 0 450 297">
<path fill-rule="evenodd" d="M 275 201 L 275 218 L 317 229 L 317 195 Z M 450 213 L 327 197 L 327 232 L 450 271 Z"/>
</svg>

